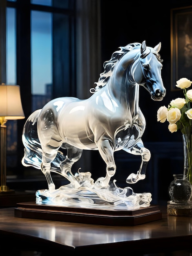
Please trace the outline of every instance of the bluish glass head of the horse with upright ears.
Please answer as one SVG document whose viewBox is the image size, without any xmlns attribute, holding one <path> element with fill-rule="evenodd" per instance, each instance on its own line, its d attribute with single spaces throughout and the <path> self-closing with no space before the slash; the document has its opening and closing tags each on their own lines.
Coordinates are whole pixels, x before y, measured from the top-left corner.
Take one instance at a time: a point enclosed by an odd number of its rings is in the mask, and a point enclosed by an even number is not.
<svg viewBox="0 0 192 256">
<path fill-rule="evenodd" d="M 162 60 L 158 54 L 160 49 L 161 43 L 152 48 L 147 47 L 145 41 L 143 41 L 141 44 L 140 65 L 137 63 L 133 74 L 136 83 L 143 85 L 155 101 L 161 101 L 166 93 L 161 77 Z"/>
</svg>

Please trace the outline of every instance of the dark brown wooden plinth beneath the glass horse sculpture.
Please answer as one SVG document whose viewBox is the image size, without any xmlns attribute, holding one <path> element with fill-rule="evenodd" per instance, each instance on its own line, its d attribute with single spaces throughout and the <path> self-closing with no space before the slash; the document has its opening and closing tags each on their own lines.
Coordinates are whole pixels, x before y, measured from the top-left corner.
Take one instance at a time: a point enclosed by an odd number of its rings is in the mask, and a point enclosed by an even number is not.
<svg viewBox="0 0 192 256">
<path fill-rule="evenodd" d="M 39 205 L 35 202 L 25 202 L 17 204 L 15 217 L 95 225 L 134 226 L 161 220 L 162 213 L 157 205 L 137 210 L 121 211 Z"/>
</svg>

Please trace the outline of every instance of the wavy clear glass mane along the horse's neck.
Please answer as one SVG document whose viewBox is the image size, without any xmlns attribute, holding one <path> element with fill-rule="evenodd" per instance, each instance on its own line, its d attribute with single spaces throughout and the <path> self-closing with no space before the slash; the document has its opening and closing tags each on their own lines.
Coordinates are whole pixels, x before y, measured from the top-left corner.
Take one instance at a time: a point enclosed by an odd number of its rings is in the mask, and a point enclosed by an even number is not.
<svg viewBox="0 0 192 256">
<path fill-rule="evenodd" d="M 100 74 L 100 78 L 98 79 L 98 82 L 95 82 L 96 87 L 91 88 L 90 92 L 95 93 L 96 91 L 100 90 L 103 86 L 106 85 L 107 81 L 112 75 L 112 71 L 114 70 L 114 67 L 118 63 L 118 61 L 121 59 L 121 57 L 127 53 L 130 52 L 135 47 L 141 46 L 141 43 L 130 43 L 126 46 L 120 46 L 120 50 L 114 52 L 112 54 L 112 57 L 109 61 L 105 61 L 103 63 L 104 71 Z"/>
</svg>

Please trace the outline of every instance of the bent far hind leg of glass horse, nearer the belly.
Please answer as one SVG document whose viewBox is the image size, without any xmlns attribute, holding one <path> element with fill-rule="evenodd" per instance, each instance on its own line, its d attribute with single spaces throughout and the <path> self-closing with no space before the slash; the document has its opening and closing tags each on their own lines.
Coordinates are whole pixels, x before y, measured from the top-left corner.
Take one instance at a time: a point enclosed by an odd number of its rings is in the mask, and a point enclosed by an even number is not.
<svg viewBox="0 0 192 256">
<path fill-rule="evenodd" d="M 69 182 L 71 182 L 71 185 L 75 188 L 80 187 L 79 182 L 76 180 L 76 177 L 71 172 L 71 168 L 75 162 L 77 162 L 82 153 L 83 150 L 80 148 L 76 148 L 74 146 L 71 146 L 69 144 L 65 144 L 65 148 L 67 149 L 67 155 L 65 157 L 65 160 L 60 163 L 61 167 L 61 175 L 65 177 Z"/>
</svg>

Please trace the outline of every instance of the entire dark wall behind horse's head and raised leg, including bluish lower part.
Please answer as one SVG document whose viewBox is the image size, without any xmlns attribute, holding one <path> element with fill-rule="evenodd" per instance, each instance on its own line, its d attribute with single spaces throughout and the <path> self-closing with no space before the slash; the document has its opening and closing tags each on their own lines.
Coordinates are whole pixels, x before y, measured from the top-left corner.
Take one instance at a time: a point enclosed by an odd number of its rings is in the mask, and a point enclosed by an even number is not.
<svg viewBox="0 0 192 256">
<path fill-rule="evenodd" d="M 154 1 L 101 0 L 101 43 L 102 63 L 109 60 L 118 47 L 129 43 L 142 43 L 150 47 L 161 42 L 159 54 L 163 59 L 162 78 L 167 90 L 163 101 L 153 101 L 150 94 L 141 87 L 139 105 L 146 119 L 142 137 L 145 147 L 151 152 L 146 178 L 131 185 L 134 192 L 151 192 L 154 203 L 169 200 L 167 189 L 174 173 L 183 173 L 183 146 L 181 131 L 171 133 L 168 122 L 157 122 L 157 110 L 168 106 L 172 99 L 183 97 L 183 91 L 171 91 L 171 9 L 187 7 L 192 1 L 171 0 L 167 4 Z M 180 79 L 181 77 L 179 77 Z M 175 81 L 176 84 L 176 81 Z M 141 157 L 117 151 L 117 171 L 114 178 L 117 185 L 125 187 L 126 177 L 138 170 Z M 105 170 L 105 164 L 97 155 L 93 158 L 93 169 Z M 98 168 L 98 166 L 100 168 Z"/>
</svg>

